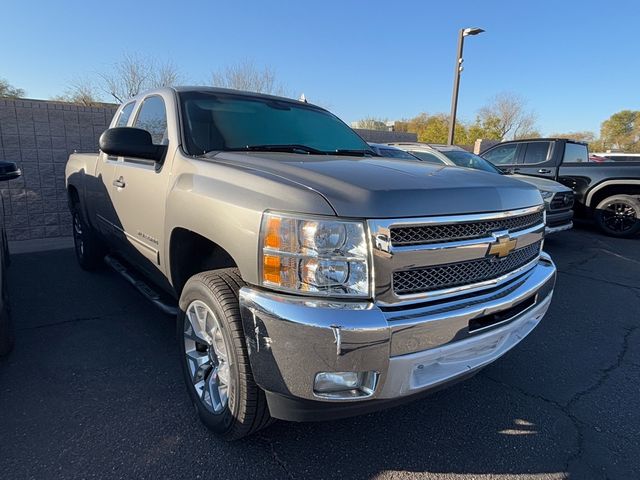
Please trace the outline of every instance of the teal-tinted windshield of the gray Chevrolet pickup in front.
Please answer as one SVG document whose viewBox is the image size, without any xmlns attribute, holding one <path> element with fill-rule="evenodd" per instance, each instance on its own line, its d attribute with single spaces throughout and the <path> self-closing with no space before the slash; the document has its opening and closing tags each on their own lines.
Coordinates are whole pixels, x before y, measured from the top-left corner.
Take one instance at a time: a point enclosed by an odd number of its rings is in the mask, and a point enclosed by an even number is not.
<svg viewBox="0 0 640 480">
<path fill-rule="evenodd" d="M 373 153 L 340 119 L 318 107 L 219 92 L 182 92 L 179 97 L 184 148 L 190 155 L 287 148 L 300 153 Z"/>
</svg>

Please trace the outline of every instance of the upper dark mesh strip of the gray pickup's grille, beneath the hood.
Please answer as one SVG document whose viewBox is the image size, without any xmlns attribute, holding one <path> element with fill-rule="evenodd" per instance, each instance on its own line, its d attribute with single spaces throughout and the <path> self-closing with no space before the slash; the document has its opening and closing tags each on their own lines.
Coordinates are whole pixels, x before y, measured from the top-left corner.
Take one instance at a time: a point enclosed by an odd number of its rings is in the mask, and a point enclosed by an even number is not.
<svg viewBox="0 0 640 480">
<path fill-rule="evenodd" d="M 472 238 L 487 237 L 491 232 L 509 230 L 517 232 L 543 221 L 543 212 L 508 217 L 499 220 L 486 220 L 469 223 L 450 223 L 439 225 L 420 225 L 411 227 L 392 227 L 391 243 L 395 246 L 425 245 L 438 242 L 454 242 Z"/>
</svg>

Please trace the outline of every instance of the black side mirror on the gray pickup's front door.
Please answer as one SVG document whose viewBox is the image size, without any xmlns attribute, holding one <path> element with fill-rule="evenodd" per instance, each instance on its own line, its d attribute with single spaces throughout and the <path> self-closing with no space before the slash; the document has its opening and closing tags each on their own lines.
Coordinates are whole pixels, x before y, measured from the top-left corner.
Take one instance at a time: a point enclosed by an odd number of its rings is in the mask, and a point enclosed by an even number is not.
<svg viewBox="0 0 640 480">
<path fill-rule="evenodd" d="M 114 157 L 133 157 L 162 162 L 167 153 L 165 145 L 154 145 L 151 134 L 133 127 L 116 127 L 100 135 L 100 150 Z"/>
</svg>

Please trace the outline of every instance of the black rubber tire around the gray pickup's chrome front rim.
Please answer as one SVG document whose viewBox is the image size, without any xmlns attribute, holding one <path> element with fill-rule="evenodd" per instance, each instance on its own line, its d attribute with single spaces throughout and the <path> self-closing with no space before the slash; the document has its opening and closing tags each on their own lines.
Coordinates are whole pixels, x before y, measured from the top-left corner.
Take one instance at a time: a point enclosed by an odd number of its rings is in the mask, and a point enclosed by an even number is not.
<svg viewBox="0 0 640 480">
<path fill-rule="evenodd" d="M 235 268 L 194 275 L 182 290 L 177 321 L 182 371 L 189 397 L 202 422 L 221 438 L 229 441 L 251 435 L 271 423 L 264 392 L 255 384 L 249 364 L 238 300 L 238 292 L 243 285 L 240 273 Z M 201 304 L 208 307 L 218 321 L 228 359 L 228 399 L 226 405 L 219 407 L 221 410 L 218 412 L 214 412 L 212 405 L 207 404 L 207 394 L 204 392 L 206 387 L 202 387 L 202 396 L 198 393 L 196 380 L 191 371 L 193 364 L 187 360 L 186 344 L 192 338 L 188 336 L 189 333 L 193 332 L 190 330 L 187 310 L 190 306 Z M 194 344 L 198 345 L 195 342 Z M 205 347 L 204 343 L 200 345 L 200 348 Z M 203 385 L 206 384 L 205 375 L 199 377 L 204 382 Z M 210 396 L 208 398 L 211 399 Z"/>
</svg>

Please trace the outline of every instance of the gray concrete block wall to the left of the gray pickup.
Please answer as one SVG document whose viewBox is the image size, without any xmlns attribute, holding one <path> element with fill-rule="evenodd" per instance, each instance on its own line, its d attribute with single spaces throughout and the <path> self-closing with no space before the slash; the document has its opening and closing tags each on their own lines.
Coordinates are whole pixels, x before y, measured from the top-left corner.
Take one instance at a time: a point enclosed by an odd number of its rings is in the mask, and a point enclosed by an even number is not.
<svg viewBox="0 0 640 480">
<path fill-rule="evenodd" d="M 64 168 L 74 150 L 97 151 L 116 106 L 0 99 L 0 159 L 22 177 L 0 183 L 9 240 L 71 235 Z"/>
</svg>

